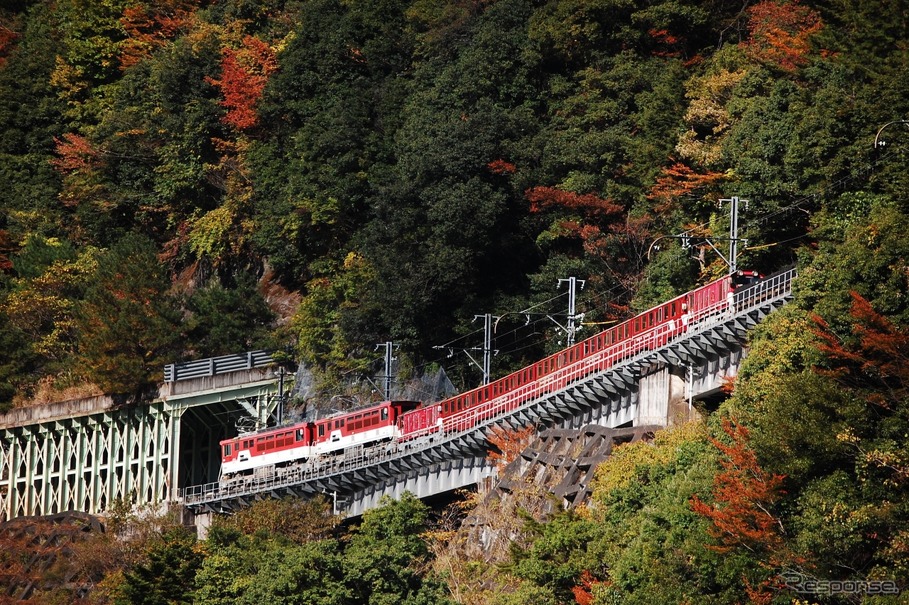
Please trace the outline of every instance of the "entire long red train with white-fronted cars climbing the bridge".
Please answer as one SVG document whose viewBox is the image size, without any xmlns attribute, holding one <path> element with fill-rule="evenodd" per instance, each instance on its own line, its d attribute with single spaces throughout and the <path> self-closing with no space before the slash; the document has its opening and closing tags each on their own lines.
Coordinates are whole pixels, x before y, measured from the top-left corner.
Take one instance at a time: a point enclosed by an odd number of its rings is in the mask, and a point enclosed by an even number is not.
<svg viewBox="0 0 909 605">
<path fill-rule="evenodd" d="M 619 361 L 665 345 L 690 325 L 727 313 L 735 290 L 763 279 L 739 271 L 653 307 L 487 385 L 426 405 L 384 401 L 312 422 L 302 422 L 221 442 L 221 475 L 301 464 L 353 446 L 381 442 L 407 446 L 415 439 L 469 429 L 522 403 L 607 370 Z"/>
</svg>

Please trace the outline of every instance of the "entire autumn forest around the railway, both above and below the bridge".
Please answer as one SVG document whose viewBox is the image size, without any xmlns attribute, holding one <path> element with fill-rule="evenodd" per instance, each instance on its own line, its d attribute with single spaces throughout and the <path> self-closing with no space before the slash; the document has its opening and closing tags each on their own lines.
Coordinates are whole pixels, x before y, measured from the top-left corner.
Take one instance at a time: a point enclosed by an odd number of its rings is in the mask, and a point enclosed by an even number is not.
<svg viewBox="0 0 909 605">
<path fill-rule="evenodd" d="M 332 392 L 387 340 L 474 386 L 436 347 L 476 314 L 501 375 L 564 341 L 560 278 L 593 330 L 724 273 L 738 196 L 739 266 L 798 262 L 796 300 L 589 509 L 501 512 L 498 558 L 412 499 L 348 534 L 161 530 L 87 557 L 92 599 L 902 602 L 798 586 L 909 586 L 903 120 L 901 0 L 8 0 L 0 405 L 260 347 Z"/>
</svg>

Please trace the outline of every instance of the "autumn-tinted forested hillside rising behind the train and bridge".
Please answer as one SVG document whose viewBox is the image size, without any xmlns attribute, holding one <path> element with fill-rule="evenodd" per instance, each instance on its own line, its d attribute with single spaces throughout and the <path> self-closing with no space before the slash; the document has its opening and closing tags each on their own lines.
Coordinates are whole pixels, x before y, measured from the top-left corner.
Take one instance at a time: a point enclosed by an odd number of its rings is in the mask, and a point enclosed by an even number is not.
<svg viewBox="0 0 909 605">
<path fill-rule="evenodd" d="M 769 271 L 904 197 L 897 1 L 3 6 L 6 405 L 253 347 L 331 387 L 481 313 L 501 374 L 564 342 L 560 278 L 597 325 L 722 273 L 719 199 Z"/>
</svg>

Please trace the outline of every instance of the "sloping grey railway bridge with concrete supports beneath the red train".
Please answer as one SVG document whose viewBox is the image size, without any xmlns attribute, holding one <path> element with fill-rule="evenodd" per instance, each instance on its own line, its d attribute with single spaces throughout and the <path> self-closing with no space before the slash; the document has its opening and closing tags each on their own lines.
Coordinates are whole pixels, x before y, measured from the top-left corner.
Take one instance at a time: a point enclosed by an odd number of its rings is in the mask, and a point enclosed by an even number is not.
<svg viewBox="0 0 909 605">
<path fill-rule="evenodd" d="M 720 301 L 681 334 L 653 334 L 654 346 L 625 343 L 610 351 L 615 362 L 590 373 L 584 364 L 566 372 L 566 386 L 538 395 L 532 385 L 478 406 L 469 420 L 447 423 L 442 433 L 407 449 L 358 447 L 317 464 L 190 486 L 182 502 L 197 514 L 229 511 L 263 497 L 329 495 L 336 512 L 359 515 L 384 495 L 418 497 L 476 484 L 493 474 L 488 437 L 495 427 L 580 429 L 665 426 L 688 419 L 696 399 L 719 395 L 735 377 L 748 331 L 791 298 L 795 270 L 787 270 Z M 625 348 L 627 344 L 627 348 Z M 561 381 L 560 381 L 561 382 Z M 520 391 L 520 389 L 518 389 Z M 513 402 L 517 397 L 519 403 Z"/>
</svg>

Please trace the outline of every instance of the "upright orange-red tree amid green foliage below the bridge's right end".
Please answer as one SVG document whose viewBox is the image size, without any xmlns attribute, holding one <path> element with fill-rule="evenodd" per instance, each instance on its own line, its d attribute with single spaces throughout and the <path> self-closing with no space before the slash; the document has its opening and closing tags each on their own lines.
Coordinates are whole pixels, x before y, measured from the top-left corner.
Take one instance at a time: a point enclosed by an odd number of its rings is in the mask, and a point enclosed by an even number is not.
<svg viewBox="0 0 909 605">
<path fill-rule="evenodd" d="M 752 552 L 772 552 L 782 543 L 782 526 L 771 510 L 783 493 L 784 476 L 761 468 L 748 446 L 745 427 L 723 419 L 723 431 L 731 444 L 711 439 L 723 455 L 723 470 L 713 478 L 713 503 L 695 494 L 691 509 L 713 524 L 710 533 L 720 543 L 715 550 L 726 552 L 741 546 Z"/>
</svg>

